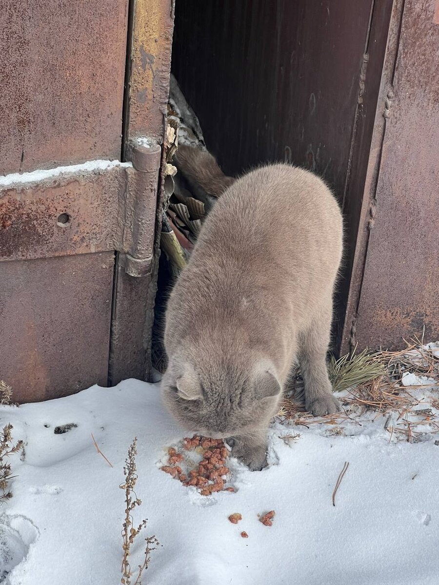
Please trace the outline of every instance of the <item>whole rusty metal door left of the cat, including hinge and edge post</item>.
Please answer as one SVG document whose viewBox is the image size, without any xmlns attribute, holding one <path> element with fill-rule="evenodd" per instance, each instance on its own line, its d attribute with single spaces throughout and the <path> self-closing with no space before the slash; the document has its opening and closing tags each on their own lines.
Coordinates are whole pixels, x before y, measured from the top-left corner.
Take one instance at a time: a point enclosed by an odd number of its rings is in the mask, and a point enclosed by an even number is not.
<svg viewBox="0 0 439 585">
<path fill-rule="evenodd" d="M 173 1 L 5 0 L 0 29 L 0 378 L 148 377 Z"/>
</svg>

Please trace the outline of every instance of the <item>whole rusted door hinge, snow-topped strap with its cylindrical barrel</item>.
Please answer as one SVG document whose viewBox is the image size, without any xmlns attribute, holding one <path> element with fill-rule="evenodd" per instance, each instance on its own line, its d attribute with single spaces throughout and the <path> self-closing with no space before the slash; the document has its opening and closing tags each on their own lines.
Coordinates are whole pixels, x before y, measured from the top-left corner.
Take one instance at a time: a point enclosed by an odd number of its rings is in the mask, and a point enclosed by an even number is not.
<svg viewBox="0 0 439 585">
<path fill-rule="evenodd" d="M 149 274 L 162 148 L 137 139 L 130 156 L 0 177 L 0 261 L 116 250 Z"/>
</svg>

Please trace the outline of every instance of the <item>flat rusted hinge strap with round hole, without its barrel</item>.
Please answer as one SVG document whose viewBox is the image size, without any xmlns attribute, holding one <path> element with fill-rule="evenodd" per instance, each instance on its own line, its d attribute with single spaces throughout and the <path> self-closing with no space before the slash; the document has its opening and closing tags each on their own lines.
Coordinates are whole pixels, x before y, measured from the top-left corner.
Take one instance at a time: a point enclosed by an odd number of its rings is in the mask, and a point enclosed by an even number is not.
<svg viewBox="0 0 439 585">
<path fill-rule="evenodd" d="M 46 180 L 29 173 L 8 187 L 0 184 L 0 260 L 124 249 L 127 169 L 83 167 L 64 167 Z"/>
</svg>

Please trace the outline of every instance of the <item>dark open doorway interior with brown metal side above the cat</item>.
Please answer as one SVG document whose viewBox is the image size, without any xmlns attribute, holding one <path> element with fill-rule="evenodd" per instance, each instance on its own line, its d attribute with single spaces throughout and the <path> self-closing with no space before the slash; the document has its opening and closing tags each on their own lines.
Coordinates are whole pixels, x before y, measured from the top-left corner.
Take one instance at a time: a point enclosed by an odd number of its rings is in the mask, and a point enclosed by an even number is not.
<svg viewBox="0 0 439 585">
<path fill-rule="evenodd" d="M 173 73 L 225 172 L 286 160 L 345 216 L 345 308 L 393 0 L 179 0 Z M 213 113 L 214 112 L 214 113 Z"/>
</svg>

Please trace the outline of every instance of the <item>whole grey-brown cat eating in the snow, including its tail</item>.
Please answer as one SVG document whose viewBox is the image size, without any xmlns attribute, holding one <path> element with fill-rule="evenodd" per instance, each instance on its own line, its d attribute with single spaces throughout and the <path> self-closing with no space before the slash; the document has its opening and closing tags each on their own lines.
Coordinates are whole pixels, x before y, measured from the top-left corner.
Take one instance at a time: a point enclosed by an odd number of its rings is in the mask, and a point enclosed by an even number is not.
<svg viewBox="0 0 439 585">
<path fill-rule="evenodd" d="M 170 295 L 162 394 L 188 431 L 232 438 L 232 455 L 259 470 L 294 364 L 307 410 L 339 410 L 326 354 L 342 218 L 308 171 L 273 164 L 233 181 L 212 160 L 180 146 L 180 168 L 205 190 L 212 176 L 221 195 Z"/>
</svg>

